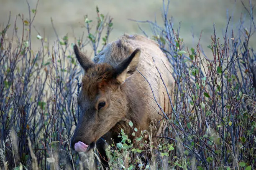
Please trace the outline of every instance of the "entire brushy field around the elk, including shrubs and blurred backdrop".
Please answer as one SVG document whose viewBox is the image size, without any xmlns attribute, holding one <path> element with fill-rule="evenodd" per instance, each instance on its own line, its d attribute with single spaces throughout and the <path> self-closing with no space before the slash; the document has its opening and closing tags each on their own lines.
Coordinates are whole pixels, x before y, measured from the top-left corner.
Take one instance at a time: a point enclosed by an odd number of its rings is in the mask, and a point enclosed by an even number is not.
<svg viewBox="0 0 256 170">
<path fill-rule="evenodd" d="M 256 168 L 254 1 L 0 3 L 0 169 L 100 169 L 97 150 L 70 148 L 82 78 L 72 45 L 92 57 L 124 32 L 145 34 L 166 53 L 174 110 L 156 148 L 141 138 L 135 148 L 120 132 L 122 143 L 107 149 L 111 168 Z"/>
</svg>

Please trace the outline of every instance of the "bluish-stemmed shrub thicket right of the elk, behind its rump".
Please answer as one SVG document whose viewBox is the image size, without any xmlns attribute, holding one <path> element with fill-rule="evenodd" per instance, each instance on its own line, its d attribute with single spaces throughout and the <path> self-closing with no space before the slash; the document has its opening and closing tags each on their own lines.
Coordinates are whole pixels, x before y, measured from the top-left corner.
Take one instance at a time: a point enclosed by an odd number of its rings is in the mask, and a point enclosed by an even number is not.
<svg viewBox="0 0 256 170">
<path fill-rule="evenodd" d="M 168 140 L 176 146 L 169 156 L 169 166 L 252 168 L 256 96 L 255 69 L 251 63 L 256 61 L 256 55 L 249 40 L 256 27 L 251 1 L 249 7 L 244 5 L 251 17 L 250 25 L 241 19 L 238 29 L 233 30 L 230 16 L 222 37 L 217 36 L 213 25 L 208 46 L 212 56 L 205 55 L 200 39 L 196 47 L 184 49 L 179 28 L 175 31 L 172 20 L 167 18 L 168 7 L 169 0 L 167 5 L 164 2 L 163 27 L 156 21 L 136 22 L 151 26 L 154 39 L 174 68 L 170 71 L 176 80 L 176 98 L 170 101 L 175 108 L 174 119 L 169 121 L 169 135 L 164 138 L 177 141 Z M 182 162 L 183 159 L 186 161 Z"/>
</svg>

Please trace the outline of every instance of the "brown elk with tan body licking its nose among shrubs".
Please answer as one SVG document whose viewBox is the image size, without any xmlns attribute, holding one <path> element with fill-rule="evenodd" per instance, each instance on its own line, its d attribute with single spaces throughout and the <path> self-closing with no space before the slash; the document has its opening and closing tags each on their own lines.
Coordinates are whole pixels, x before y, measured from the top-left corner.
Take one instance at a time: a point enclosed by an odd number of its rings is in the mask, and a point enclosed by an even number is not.
<svg viewBox="0 0 256 170">
<path fill-rule="evenodd" d="M 84 75 L 77 95 L 81 116 L 71 148 L 87 152 L 96 146 L 108 168 L 105 141 L 118 142 L 121 129 L 133 139 L 129 121 L 138 132 L 161 133 L 164 124 L 160 120 L 172 113 L 171 66 L 159 45 L 143 35 L 124 34 L 92 60 L 77 45 L 74 53 Z"/>
</svg>

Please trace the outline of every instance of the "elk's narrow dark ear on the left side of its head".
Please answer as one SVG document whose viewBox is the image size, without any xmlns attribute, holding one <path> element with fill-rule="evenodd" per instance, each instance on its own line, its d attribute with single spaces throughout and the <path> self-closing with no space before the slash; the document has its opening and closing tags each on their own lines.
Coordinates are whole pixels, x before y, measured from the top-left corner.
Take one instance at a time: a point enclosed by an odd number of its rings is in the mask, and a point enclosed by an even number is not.
<svg viewBox="0 0 256 170">
<path fill-rule="evenodd" d="M 79 48 L 77 47 L 77 45 L 74 45 L 74 53 L 77 57 L 78 62 L 80 63 L 80 65 L 83 67 L 84 71 L 86 72 L 88 70 L 88 68 L 92 67 L 94 65 L 94 63 L 92 62 L 92 60 L 90 60 L 85 54 L 83 54 Z"/>
</svg>

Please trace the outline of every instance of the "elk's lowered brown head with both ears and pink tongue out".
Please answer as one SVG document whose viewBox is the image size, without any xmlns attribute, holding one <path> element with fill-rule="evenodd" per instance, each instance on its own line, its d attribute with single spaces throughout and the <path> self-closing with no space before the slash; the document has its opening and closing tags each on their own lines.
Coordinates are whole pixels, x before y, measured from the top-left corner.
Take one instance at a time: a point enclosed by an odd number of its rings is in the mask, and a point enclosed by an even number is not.
<svg viewBox="0 0 256 170">
<path fill-rule="evenodd" d="M 85 74 L 77 96 L 80 117 L 71 147 L 85 152 L 95 147 L 96 141 L 125 117 L 127 100 L 122 86 L 136 70 L 141 51 L 136 49 L 116 67 L 95 64 L 78 50 L 77 45 L 74 45 L 74 52 Z"/>
</svg>

